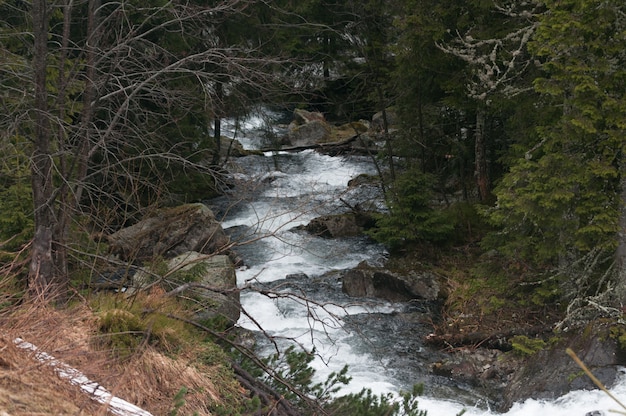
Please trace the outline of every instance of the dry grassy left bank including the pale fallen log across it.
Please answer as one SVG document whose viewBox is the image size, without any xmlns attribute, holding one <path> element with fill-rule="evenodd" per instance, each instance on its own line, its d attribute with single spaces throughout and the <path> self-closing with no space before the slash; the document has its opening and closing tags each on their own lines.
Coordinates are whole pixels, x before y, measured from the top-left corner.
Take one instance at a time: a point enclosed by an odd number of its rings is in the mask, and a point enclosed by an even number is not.
<svg viewBox="0 0 626 416">
<path fill-rule="evenodd" d="M 136 300 L 143 304 L 145 299 Z M 151 295 L 150 302 L 164 301 L 157 293 Z M 118 302 L 114 310 L 123 314 L 125 302 Z M 132 316 L 129 311 L 126 314 Z M 171 336 L 177 345 L 168 349 L 155 345 L 148 334 L 138 334 L 140 339 L 145 335 L 145 342 L 125 354 L 107 340 L 131 335 L 104 334 L 102 321 L 103 314 L 85 299 L 67 308 L 32 303 L 4 309 L 0 315 L 0 414 L 165 415 L 178 411 L 210 415 L 212 409 L 227 403 L 227 397 L 228 406 L 241 401 L 237 399 L 242 397 L 241 387 L 227 356 L 201 342 L 199 336 L 190 343 L 189 333 L 179 331 L 173 321 Z M 108 396 L 100 401 L 104 391 Z M 115 405 L 127 401 L 136 407 L 113 411 L 107 404 L 113 396 Z M 137 413 L 138 408 L 145 413 Z"/>
</svg>

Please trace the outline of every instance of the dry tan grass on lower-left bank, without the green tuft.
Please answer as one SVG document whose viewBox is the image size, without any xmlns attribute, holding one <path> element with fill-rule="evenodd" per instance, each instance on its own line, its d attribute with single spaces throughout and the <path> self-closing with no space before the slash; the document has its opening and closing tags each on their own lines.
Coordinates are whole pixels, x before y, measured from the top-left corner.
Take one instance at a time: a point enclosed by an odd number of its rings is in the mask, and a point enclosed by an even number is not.
<svg viewBox="0 0 626 416">
<path fill-rule="evenodd" d="M 113 395 L 154 415 L 169 414 L 174 397 L 185 387 L 178 414 L 210 415 L 221 393 L 241 393 L 228 380 L 223 364 L 203 363 L 201 345 L 186 347 L 176 357 L 149 345 L 124 360 L 99 350 L 98 316 L 86 303 L 60 310 L 25 305 L 0 315 L 0 416 L 106 415 L 107 406 L 92 400 L 54 369 L 18 348 L 17 337 L 74 367 Z"/>
</svg>

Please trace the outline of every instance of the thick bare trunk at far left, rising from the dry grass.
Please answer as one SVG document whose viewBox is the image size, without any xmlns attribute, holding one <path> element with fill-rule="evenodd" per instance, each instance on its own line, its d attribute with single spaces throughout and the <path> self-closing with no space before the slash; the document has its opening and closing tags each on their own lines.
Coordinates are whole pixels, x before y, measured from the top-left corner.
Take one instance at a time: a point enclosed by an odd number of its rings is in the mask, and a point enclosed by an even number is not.
<svg viewBox="0 0 626 416">
<path fill-rule="evenodd" d="M 35 235 L 28 273 L 29 294 L 44 299 L 58 295 L 61 282 L 56 279 L 53 258 L 53 212 L 52 154 L 50 148 L 51 128 L 48 119 L 48 94 L 46 70 L 48 55 L 48 16 L 46 0 L 34 0 L 33 19 L 33 70 L 35 80 L 33 156 L 31 160 Z"/>
</svg>

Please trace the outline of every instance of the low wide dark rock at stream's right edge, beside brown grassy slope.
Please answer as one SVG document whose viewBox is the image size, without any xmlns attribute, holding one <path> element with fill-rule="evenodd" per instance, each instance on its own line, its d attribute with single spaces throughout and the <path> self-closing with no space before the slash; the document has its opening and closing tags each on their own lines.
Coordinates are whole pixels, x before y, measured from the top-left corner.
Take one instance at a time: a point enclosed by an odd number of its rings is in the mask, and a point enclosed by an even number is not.
<svg viewBox="0 0 626 416">
<path fill-rule="evenodd" d="M 440 285 L 437 276 L 428 271 L 400 274 L 361 263 L 345 272 L 342 290 L 348 296 L 374 297 L 391 302 L 432 301 L 439 298 Z"/>
</svg>

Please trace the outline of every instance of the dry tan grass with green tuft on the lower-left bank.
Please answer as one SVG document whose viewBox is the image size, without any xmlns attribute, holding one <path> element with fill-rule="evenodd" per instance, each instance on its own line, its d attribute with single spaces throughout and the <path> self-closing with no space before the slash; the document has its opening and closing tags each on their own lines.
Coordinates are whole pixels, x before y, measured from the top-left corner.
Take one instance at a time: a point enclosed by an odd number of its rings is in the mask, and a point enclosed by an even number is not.
<svg viewBox="0 0 626 416">
<path fill-rule="evenodd" d="M 42 403 L 44 414 L 106 413 L 105 406 L 38 365 L 32 352 L 17 349 L 13 341 L 21 338 L 155 415 L 212 415 L 219 406 L 241 406 L 246 397 L 229 356 L 203 333 L 165 317 L 177 312 L 169 302 L 154 293 L 133 301 L 105 294 L 92 304 L 77 301 L 66 308 L 33 303 L 5 309 L 0 380 L 13 381 L 0 383 L 6 389 L 0 396 L 14 397 L 15 403 L 0 403 L 6 409 L 24 403 L 26 414 L 39 412 Z M 47 385 L 57 386 L 54 399 Z M 75 407 L 90 410 L 67 411 Z"/>
</svg>

